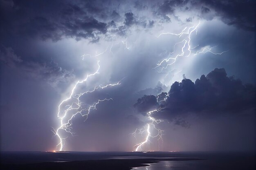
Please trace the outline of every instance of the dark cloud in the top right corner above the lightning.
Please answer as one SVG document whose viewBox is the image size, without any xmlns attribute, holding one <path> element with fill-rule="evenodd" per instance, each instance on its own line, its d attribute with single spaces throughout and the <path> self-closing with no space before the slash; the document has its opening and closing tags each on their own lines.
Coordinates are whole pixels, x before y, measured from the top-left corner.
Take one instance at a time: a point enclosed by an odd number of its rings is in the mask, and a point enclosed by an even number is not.
<svg viewBox="0 0 256 170">
<path fill-rule="evenodd" d="M 212 20 L 214 17 L 220 17 L 228 25 L 255 31 L 255 0 L 170 0 L 159 5 L 157 14 L 168 21 L 166 14 L 175 16 L 175 11 L 183 7 L 185 10 L 200 9 L 200 18 L 203 19 Z"/>
</svg>

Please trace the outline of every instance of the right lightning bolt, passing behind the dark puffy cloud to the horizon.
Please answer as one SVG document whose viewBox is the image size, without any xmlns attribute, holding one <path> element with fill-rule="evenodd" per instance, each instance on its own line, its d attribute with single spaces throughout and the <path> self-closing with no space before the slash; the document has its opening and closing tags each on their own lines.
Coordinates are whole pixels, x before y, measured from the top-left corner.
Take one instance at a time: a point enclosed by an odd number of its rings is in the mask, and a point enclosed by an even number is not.
<svg viewBox="0 0 256 170">
<path fill-rule="evenodd" d="M 216 46 L 205 46 L 204 48 L 193 52 L 191 50 L 196 49 L 199 45 L 191 48 L 191 35 L 192 33 L 195 32 L 195 34 L 197 34 L 198 31 L 198 26 L 200 25 L 200 21 L 198 24 L 191 26 L 191 27 L 185 27 L 180 33 L 161 33 L 157 36 L 157 38 L 159 38 L 162 35 L 175 35 L 178 36 L 179 38 L 181 38 L 182 40 L 180 42 L 176 42 L 174 44 L 173 47 L 173 51 L 168 53 L 168 56 L 166 58 L 164 58 L 162 61 L 160 61 L 159 63 L 157 63 L 157 66 L 155 68 L 160 67 L 161 68 L 161 72 L 158 71 L 158 73 L 163 73 L 163 69 L 168 69 L 168 66 L 174 64 L 177 60 L 178 57 L 189 57 L 191 55 L 191 53 L 193 53 L 193 55 L 199 55 L 200 53 L 212 53 L 214 55 L 221 55 L 227 51 L 223 51 L 221 53 L 214 53 L 212 51 L 213 48 L 215 48 Z M 187 30 L 187 31 L 186 31 Z M 175 55 L 174 57 L 172 56 L 173 53 L 175 53 L 175 47 L 177 46 L 177 44 L 183 44 L 180 53 L 178 53 L 177 55 Z M 155 69 L 153 68 L 153 69 Z M 167 71 L 166 76 L 169 74 L 169 71 Z M 170 81 L 171 82 L 171 81 Z M 160 108 L 158 108 L 157 110 L 151 110 L 147 113 L 147 119 L 150 120 L 150 123 L 146 124 L 146 127 L 141 128 L 141 129 L 136 129 L 135 132 L 132 133 L 132 135 L 134 135 L 134 137 L 136 137 L 136 133 L 137 131 L 139 131 L 138 133 L 142 135 L 143 132 L 146 132 L 146 138 L 144 141 L 140 142 L 139 144 L 136 144 L 134 147 L 136 148 L 135 151 L 138 151 L 139 149 L 141 150 L 141 146 L 143 146 L 144 144 L 148 143 L 148 145 L 150 144 L 150 137 L 155 138 L 158 137 L 158 142 L 161 140 L 163 142 L 162 139 L 162 135 L 163 135 L 163 130 L 157 128 L 157 124 L 161 123 L 162 120 L 159 119 L 155 119 L 152 114 L 154 112 L 159 112 L 162 110 L 161 106 L 163 102 L 166 102 L 166 99 L 168 99 L 168 94 L 165 94 L 164 99 L 159 100 L 159 95 L 157 95 L 157 102 L 159 103 Z M 152 130 L 156 130 L 156 135 L 152 135 Z M 158 148 L 159 148 L 159 143 L 158 143 Z"/>
</svg>

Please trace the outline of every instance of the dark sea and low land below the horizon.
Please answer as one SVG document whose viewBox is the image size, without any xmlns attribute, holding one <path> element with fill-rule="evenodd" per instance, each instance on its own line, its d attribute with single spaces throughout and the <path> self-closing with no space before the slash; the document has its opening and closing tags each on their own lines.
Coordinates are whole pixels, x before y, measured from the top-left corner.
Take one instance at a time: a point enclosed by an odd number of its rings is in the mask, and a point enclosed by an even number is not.
<svg viewBox="0 0 256 170">
<path fill-rule="evenodd" d="M 101 162 L 102 160 L 116 162 L 128 160 L 131 163 L 135 160 L 143 160 L 141 167 L 132 167 L 131 164 L 132 170 L 255 170 L 256 168 L 255 152 L 1 152 L 0 159 L 1 169 L 13 170 L 19 167 L 29 169 L 25 168 L 25 165 L 33 165 L 34 169 L 37 169 L 36 166 L 42 167 L 43 163 L 49 162 L 55 163 L 56 167 L 67 162 Z M 144 163 L 148 160 L 153 162 Z M 74 170 L 94 169 L 86 165 Z M 115 163 L 111 163 L 111 166 L 115 166 Z"/>
</svg>

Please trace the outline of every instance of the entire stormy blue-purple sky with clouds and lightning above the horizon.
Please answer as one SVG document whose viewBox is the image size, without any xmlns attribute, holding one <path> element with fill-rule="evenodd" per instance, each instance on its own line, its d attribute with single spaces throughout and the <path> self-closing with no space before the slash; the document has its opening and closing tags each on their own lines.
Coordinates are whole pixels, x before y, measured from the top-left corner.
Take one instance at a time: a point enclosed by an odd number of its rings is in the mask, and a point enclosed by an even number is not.
<svg viewBox="0 0 256 170">
<path fill-rule="evenodd" d="M 255 150 L 255 5 L 0 0 L 1 150 Z"/>
</svg>

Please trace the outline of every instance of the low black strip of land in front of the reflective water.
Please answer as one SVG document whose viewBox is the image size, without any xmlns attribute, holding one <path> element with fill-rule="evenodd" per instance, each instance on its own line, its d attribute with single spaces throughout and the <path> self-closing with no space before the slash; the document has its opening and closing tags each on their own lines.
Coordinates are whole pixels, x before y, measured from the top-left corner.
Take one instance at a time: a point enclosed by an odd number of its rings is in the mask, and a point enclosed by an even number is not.
<svg viewBox="0 0 256 170">
<path fill-rule="evenodd" d="M 149 163 L 160 161 L 195 161 L 203 160 L 197 158 L 171 158 L 171 159 L 103 159 L 70 162 L 44 162 L 28 164 L 1 164 L 4 170 L 132 170 L 143 166 L 150 166 Z"/>
</svg>

